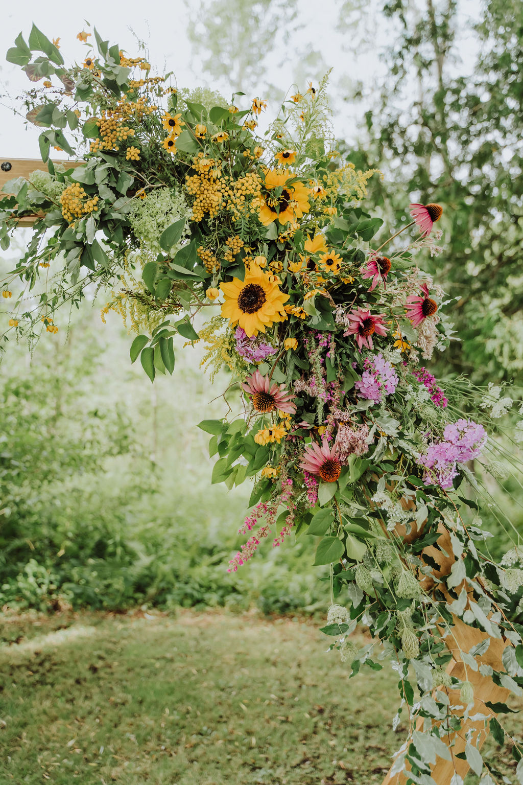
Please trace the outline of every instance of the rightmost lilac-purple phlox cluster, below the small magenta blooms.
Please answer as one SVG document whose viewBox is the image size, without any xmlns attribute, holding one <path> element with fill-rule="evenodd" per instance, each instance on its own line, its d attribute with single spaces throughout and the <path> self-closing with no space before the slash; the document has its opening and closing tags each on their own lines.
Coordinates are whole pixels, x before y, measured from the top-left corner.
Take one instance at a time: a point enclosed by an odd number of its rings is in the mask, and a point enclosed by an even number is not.
<svg viewBox="0 0 523 785">
<path fill-rule="evenodd" d="M 429 444 L 427 455 L 419 458 L 419 463 L 426 469 L 423 482 L 442 488 L 452 487 L 452 480 L 458 475 L 456 464 L 478 458 L 486 440 L 485 428 L 473 420 L 462 418 L 446 425 L 443 440 Z"/>
</svg>

